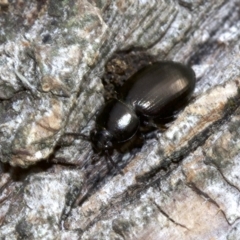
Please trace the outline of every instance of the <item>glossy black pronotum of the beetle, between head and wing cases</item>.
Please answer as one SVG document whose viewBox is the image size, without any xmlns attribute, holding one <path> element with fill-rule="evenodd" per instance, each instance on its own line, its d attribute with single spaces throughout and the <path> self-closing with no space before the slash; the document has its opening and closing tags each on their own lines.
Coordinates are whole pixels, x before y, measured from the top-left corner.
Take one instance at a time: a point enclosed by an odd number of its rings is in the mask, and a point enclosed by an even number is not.
<svg viewBox="0 0 240 240">
<path fill-rule="evenodd" d="M 98 128 L 106 129 L 116 142 L 127 141 L 139 127 L 139 119 L 135 112 L 117 99 L 106 102 L 97 116 L 96 123 Z"/>
</svg>

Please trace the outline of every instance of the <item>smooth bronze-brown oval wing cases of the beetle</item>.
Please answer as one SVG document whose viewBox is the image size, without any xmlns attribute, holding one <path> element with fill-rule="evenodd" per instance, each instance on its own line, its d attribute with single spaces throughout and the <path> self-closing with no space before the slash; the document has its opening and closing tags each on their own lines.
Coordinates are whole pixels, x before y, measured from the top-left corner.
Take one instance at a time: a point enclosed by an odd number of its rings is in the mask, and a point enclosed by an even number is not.
<svg viewBox="0 0 240 240">
<path fill-rule="evenodd" d="M 120 89 L 119 98 L 147 117 L 166 116 L 191 96 L 193 70 L 176 62 L 157 62 L 134 74 Z"/>
</svg>

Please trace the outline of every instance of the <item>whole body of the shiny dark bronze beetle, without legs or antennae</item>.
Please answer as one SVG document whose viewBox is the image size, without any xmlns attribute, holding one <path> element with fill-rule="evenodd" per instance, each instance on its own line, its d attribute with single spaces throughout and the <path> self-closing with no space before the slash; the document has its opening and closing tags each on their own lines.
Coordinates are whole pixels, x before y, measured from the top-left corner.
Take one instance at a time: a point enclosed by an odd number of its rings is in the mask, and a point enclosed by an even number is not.
<svg viewBox="0 0 240 240">
<path fill-rule="evenodd" d="M 90 134 L 95 150 L 107 152 L 132 139 L 144 121 L 174 114 L 188 101 L 196 83 L 194 71 L 177 62 L 156 62 L 127 80 L 117 99 L 105 103 Z"/>
</svg>

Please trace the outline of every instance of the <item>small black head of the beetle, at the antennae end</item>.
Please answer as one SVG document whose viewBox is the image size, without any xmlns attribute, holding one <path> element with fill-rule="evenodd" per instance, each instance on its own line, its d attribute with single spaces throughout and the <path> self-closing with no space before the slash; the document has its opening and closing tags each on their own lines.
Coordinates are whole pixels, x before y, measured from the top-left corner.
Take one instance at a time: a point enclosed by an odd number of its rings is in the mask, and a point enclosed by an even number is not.
<svg viewBox="0 0 240 240">
<path fill-rule="evenodd" d="M 90 140 L 96 152 L 102 152 L 113 148 L 113 137 L 107 130 L 92 130 L 90 133 Z"/>
</svg>

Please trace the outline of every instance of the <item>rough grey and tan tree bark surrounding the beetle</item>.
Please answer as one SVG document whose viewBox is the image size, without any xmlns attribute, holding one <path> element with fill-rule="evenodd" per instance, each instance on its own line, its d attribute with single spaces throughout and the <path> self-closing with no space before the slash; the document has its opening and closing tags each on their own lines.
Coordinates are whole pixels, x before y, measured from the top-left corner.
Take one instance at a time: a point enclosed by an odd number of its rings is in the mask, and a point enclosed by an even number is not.
<svg viewBox="0 0 240 240">
<path fill-rule="evenodd" d="M 239 29 L 238 0 L 0 0 L 0 238 L 239 239 Z M 189 64 L 197 86 L 112 154 L 120 174 L 64 133 L 89 134 L 132 58 Z"/>
</svg>

